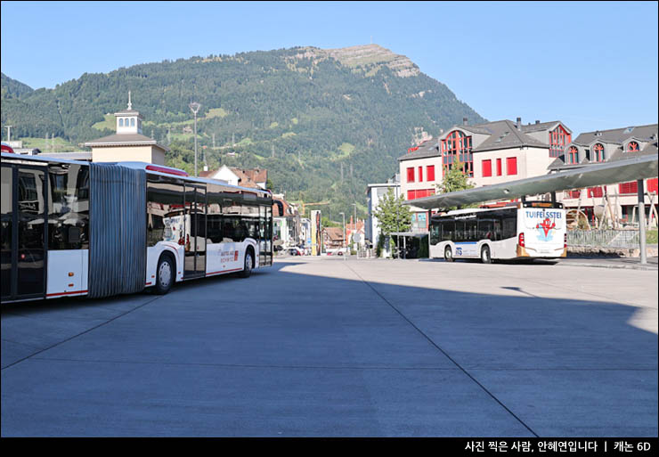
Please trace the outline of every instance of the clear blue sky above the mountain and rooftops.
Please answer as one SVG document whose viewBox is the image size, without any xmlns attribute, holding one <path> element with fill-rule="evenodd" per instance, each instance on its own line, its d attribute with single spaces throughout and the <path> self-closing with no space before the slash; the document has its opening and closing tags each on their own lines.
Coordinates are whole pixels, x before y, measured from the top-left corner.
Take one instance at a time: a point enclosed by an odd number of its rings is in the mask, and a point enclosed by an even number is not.
<svg viewBox="0 0 659 457">
<path fill-rule="evenodd" d="M 33 88 L 193 55 L 382 45 L 485 118 L 575 134 L 657 122 L 656 2 L 2 2 L 2 71 Z"/>
</svg>

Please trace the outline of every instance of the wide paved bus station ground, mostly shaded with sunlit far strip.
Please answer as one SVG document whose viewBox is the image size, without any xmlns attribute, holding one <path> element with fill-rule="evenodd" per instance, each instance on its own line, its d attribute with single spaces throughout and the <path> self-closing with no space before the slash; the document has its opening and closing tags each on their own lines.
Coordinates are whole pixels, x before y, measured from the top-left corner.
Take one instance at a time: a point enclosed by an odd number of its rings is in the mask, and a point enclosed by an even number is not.
<svg viewBox="0 0 659 457">
<path fill-rule="evenodd" d="M 289 257 L 3 306 L 1 354 L 3 437 L 657 436 L 651 269 Z"/>
</svg>

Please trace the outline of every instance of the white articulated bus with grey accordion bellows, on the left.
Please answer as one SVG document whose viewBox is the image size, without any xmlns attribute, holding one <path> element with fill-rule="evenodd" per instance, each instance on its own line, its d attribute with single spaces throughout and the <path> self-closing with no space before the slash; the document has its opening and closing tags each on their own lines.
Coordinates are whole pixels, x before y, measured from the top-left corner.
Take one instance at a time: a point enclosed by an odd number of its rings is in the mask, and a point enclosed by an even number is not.
<svg viewBox="0 0 659 457">
<path fill-rule="evenodd" d="M 2 303 L 109 297 L 273 264 L 273 195 L 142 162 L 2 153 Z"/>
</svg>

